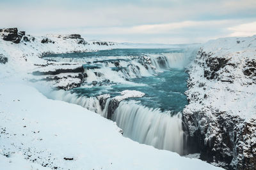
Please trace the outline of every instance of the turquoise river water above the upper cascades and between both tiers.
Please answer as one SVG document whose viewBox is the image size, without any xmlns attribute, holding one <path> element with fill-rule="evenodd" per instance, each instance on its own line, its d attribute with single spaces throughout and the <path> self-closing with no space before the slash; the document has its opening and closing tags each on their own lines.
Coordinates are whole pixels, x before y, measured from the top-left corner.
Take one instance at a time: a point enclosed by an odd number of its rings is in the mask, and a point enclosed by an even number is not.
<svg viewBox="0 0 256 170">
<path fill-rule="evenodd" d="M 82 64 L 85 69 L 93 69 L 96 73 L 102 67 L 102 63 L 129 62 L 133 58 L 142 55 L 167 55 L 168 53 L 183 53 L 183 49 L 115 49 L 101 50 L 99 52 L 86 53 L 64 53 L 47 55 L 45 59 L 84 59 Z M 131 59 L 132 57 L 132 59 Z M 86 60 L 90 59 L 90 60 Z M 120 71 L 124 67 L 111 67 L 112 71 Z M 104 71 L 102 72 L 104 74 Z M 148 108 L 159 108 L 161 111 L 182 111 L 188 104 L 184 92 L 187 90 L 186 80 L 188 74 L 184 69 L 164 68 L 152 74 L 152 76 L 141 76 L 140 78 L 129 78 L 122 83 L 108 80 L 104 85 L 84 86 L 72 89 L 78 96 L 96 97 L 100 94 L 111 94 L 111 97 L 120 95 L 122 90 L 138 90 L 146 95 L 141 98 L 129 100 L 138 101 L 139 104 Z M 102 81 L 102 80 L 99 80 Z M 126 83 L 127 82 L 127 83 Z M 133 82 L 134 84 L 130 84 Z"/>
</svg>

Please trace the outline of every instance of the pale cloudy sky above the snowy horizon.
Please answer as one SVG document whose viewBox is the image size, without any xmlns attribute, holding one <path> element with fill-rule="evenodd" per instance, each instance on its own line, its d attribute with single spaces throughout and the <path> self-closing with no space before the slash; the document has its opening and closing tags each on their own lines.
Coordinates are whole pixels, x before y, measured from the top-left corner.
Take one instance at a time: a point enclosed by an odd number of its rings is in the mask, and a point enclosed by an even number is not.
<svg viewBox="0 0 256 170">
<path fill-rule="evenodd" d="M 0 27 L 133 43 L 256 34 L 255 0 L 0 0 Z"/>
</svg>

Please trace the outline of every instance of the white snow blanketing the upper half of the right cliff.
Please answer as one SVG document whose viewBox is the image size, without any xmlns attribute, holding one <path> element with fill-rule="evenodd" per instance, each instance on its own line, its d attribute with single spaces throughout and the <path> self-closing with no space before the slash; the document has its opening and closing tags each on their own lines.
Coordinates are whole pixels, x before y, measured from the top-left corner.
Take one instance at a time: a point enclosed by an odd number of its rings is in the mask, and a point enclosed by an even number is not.
<svg viewBox="0 0 256 170">
<path fill-rule="evenodd" d="M 256 36 L 249 38 L 221 38 L 209 41 L 202 46 L 206 53 L 212 53 L 212 58 L 224 57 L 228 59 L 229 66 L 218 71 L 220 80 L 232 80 L 233 83 L 207 80 L 204 78 L 204 68 L 193 62 L 191 64 L 189 76 L 192 82 L 203 84 L 202 87 L 193 87 L 186 94 L 200 94 L 199 98 L 203 104 L 192 106 L 202 109 L 202 106 L 211 105 L 212 108 L 218 108 L 219 111 L 226 111 L 232 115 L 239 115 L 247 120 L 256 117 L 256 84 L 252 78 L 244 75 L 243 69 L 246 67 L 246 60 L 256 59 Z M 239 43 L 237 43 L 239 42 Z M 200 60 L 198 60 L 200 62 Z M 232 64 L 237 66 L 232 67 Z M 193 105 L 191 103 L 191 105 Z"/>
</svg>

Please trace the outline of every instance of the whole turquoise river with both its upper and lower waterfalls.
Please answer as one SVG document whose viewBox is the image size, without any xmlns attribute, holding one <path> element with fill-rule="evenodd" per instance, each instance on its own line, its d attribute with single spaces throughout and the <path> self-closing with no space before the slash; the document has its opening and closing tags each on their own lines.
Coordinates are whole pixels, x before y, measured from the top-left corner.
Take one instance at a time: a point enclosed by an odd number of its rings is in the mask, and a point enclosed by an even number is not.
<svg viewBox="0 0 256 170">
<path fill-rule="evenodd" d="M 184 67 L 189 62 L 184 49 L 114 49 L 44 59 L 81 63 L 86 74 L 81 87 L 54 91 L 52 99 L 110 118 L 134 141 L 183 154 L 180 111 L 188 104 Z M 145 96 L 117 100 L 124 90 Z"/>
</svg>

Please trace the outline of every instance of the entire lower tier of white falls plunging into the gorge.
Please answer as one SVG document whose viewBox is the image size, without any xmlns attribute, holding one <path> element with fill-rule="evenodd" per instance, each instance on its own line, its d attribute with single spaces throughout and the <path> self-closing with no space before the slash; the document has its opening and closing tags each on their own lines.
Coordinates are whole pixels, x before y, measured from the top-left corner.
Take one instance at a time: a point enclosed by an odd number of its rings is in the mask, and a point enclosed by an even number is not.
<svg viewBox="0 0 256 170">
<path fill-rule="evenodd" d="M 51 92 L 51 99 L 78 104 L 107 118 L 111 98 L 102 110 L 97 97 L 77 96 L 64 90 Z M 111 120 L 123 130 L 125 137 L 139 143 L 152 145 L 162 150 L 183 153 L 183 131 L 180 114 L 171 116 L 171 111 L 153 110 L 132 101 L 120 102 Z"/>
</svg>

